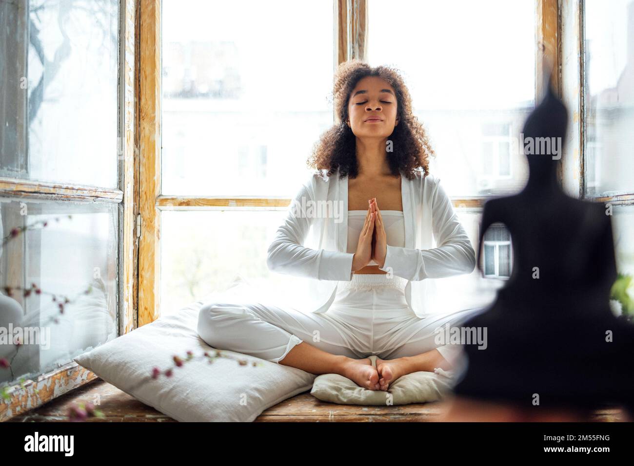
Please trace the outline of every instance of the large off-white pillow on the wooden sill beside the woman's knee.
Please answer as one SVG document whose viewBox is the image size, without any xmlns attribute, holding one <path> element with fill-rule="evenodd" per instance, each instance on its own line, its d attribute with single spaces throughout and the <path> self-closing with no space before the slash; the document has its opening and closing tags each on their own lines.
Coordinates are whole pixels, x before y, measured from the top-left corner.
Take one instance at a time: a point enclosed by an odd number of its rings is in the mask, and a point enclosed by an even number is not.
<svg viewBox="0 0 634 466">
<path fill-rule="evenodd" d="M 224 292 L 223 292 L 224 293 Z M 174 365 L 173 356 L 186 358 L 205 351 L 215 354 L 197 334 L 198 310 L 216 293 L 195 301 L 178 313 L 160 317 L 151 324 L 74 358 L 101 379 L 181 422 L 252 422 L 262 411 L 313 386 L 314 374 L 233 351 L 223 355 L 236 359 L 204 358 Z M 238 360 L 247 360 L 240 365 Z M 259 363 L 256 367 L 253 362 Z M 172 376 L 148 377 L 153 367 Z M 149 379 L 145 384 L 139 384 Z"/>
</svg>

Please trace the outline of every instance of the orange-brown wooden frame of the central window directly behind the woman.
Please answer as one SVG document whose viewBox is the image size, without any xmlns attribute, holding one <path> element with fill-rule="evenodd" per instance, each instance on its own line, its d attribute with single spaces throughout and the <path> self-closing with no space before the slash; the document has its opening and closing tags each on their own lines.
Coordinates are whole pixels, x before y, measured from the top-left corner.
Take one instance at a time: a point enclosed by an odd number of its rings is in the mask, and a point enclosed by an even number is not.
<svg viewBox="0 0 634 466">
<path fill-rule="evenodd" d="M 335 47 L 337 64 L 353 58 L 366 59 L 368 9 L 366 0 L 335 0 Z M 553 86 L 561 93 L 559 72 L 559 7 L 557 0 L 536 0 L 536 98 L 543 95 L 541 75 L 554 64 Z M 140 213 L 138 325 L 160 315 L 160 213 L 163 210 L 197 210 L 209 207 L 285 207 L 290 198 L 238 196 L 163 196 L 160 193 L 160 1 L 144 2 L 140 11 Z M 336 116 L 335 116 L 336 118 Z M 566 158 L 564 158 L 566 160 Z M 574 164 L 567 169 L 573 169 Z M 452 198 L 457 208 L 479 211 L 486 196 Z"/>
</svg>

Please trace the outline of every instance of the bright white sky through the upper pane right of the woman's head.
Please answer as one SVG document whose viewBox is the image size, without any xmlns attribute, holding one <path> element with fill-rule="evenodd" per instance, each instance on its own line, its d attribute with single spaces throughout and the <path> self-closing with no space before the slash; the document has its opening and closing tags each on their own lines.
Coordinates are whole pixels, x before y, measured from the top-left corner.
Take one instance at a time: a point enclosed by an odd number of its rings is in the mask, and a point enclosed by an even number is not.
<svg viewBox="0 0 634 466">
<path fill-rule="evenodd" d="M 369 0 L 368 8 L 368 60 L 403 71 L 417 110 L 534 99 L 534 0 Z"/>
</svg>

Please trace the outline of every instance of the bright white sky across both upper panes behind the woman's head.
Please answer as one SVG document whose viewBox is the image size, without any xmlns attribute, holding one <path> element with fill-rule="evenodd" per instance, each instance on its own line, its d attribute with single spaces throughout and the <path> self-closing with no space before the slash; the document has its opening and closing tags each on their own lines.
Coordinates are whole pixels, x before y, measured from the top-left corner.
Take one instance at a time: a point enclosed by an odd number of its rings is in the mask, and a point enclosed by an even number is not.
<svg viewBox="0 0 634 466">
<path fill-rule="evenodd" d="M 534 4 L 369 0 L 368 61 L 399 68 L 415 108 L 513 108 L 534 98 Z M 332 90 L 333 14 L 328 0 L 301 8 L 291 0 L 164 0 L 162 34 L 165 43 L 238 44 L 250 104 L 275 94 L 276 108 L 321 108 Z"/>
</svg>

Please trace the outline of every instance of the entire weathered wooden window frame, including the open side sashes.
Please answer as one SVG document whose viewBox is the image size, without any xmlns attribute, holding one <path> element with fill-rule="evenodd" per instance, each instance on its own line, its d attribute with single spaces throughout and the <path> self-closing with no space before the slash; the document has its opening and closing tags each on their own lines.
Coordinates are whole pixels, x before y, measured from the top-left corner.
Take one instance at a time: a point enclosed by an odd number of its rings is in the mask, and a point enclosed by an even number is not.
<svg viewBox="0 0 634 466">
<path fill-rule="evenodd" d="M 120 217 L 119 333 L 153 322 L 160 313 L 160 211 L 195 210 L 209 206 L 285 207 L 290 198 L 220 198 L 162 196 L 160 189 L 160 0 L 120 0 L 119 132 L 122 150 L 118 189 L 30 182 L 0 178 L 1 196 L 79 199 L 122 203 Z M 566 153 L 560 164 L 562 187 L 585 198 L 583 113 L 584 0 L 536 0 L 536 99 L 543 96 L 541 76 L 547 63 L 555 69 L 552 84 L 570 110 Z M 366 0 L 335 0 L 336 63 L 366 57 Z M 479 211 L 486 196 L 452 198 L 456 208 Z M 592 201 L 634 204 L 634 193 Z M 92 372 L 69 363 L 11 388 L 11 400 L 0 403 L 0 420 L 52 400 L 96 379 Z M 39 393 L 36 393 L 36 389 Z M 9 408 L 9 409 L 7 409 Z M 12 412 L 12 414 L 8 414 Z"/>
</svg>

